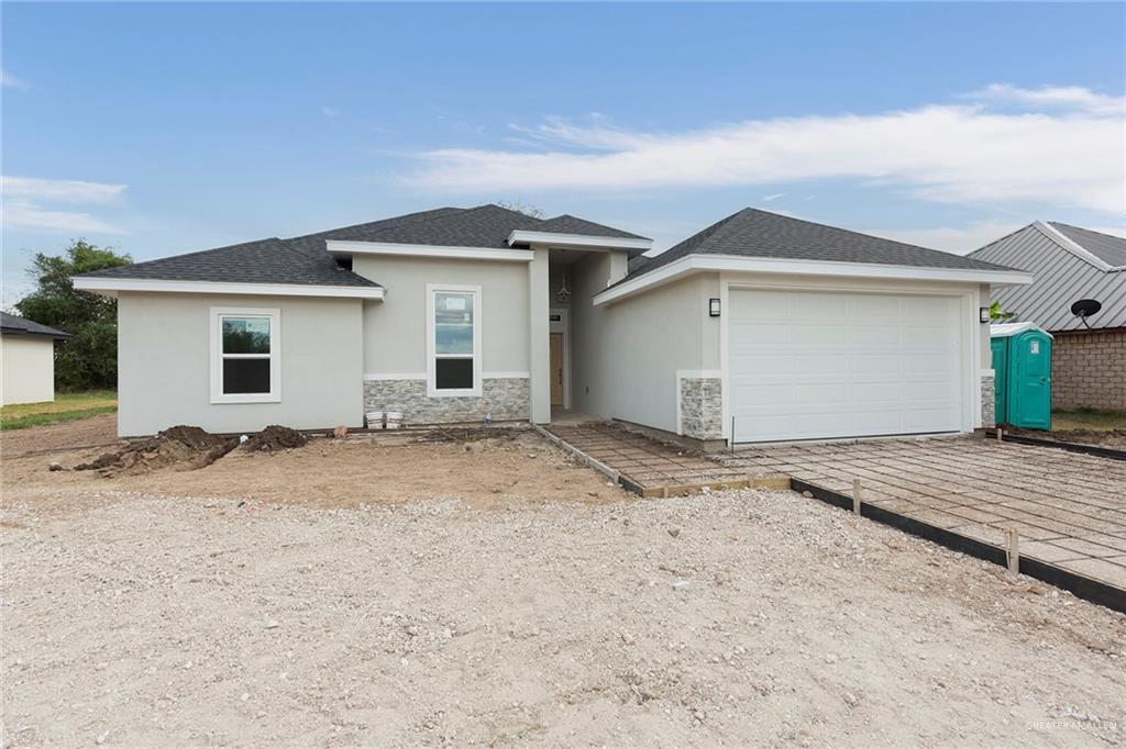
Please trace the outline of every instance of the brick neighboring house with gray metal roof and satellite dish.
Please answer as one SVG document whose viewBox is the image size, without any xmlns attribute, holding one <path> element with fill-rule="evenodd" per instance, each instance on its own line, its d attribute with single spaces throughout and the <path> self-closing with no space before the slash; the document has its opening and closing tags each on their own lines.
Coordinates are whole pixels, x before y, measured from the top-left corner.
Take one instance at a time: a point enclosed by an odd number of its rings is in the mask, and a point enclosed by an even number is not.
<svg viewBox="0 0 1126 749">
<path fill-rule="evenodd" d="M 1053 408 L 1126 410 L 1126 240 L 1058 222 L 1035 222 L 971 258 L 1028 271 L 1027 286 L 993 289 L 1017 321 L 1054 336 Z M 1101 306 L 1087 318 L 1081 299 Z"/>
</svg>

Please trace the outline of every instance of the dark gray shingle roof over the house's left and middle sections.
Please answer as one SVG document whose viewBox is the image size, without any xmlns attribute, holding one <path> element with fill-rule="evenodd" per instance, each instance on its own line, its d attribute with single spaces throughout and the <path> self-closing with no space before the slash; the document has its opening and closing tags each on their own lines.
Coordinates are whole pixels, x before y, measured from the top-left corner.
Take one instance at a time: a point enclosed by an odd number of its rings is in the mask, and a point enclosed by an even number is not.
<svg viewBox="0 0 1126 749">
<path fill-rule="evenodd" d="M 645 238 L 573 216 L 540 219 L 493 205 L 476 208 L 436 208 L 288 240 L 270 237 L 173 255 L 93 271 L 86 276 L 175 281 L 378 287 L 378 283 L 340 268 L 327 252 L 325 241 L 351 240 L 501 249 L 508 246 L 507 240 L 513 229 Z"/>
</svg>

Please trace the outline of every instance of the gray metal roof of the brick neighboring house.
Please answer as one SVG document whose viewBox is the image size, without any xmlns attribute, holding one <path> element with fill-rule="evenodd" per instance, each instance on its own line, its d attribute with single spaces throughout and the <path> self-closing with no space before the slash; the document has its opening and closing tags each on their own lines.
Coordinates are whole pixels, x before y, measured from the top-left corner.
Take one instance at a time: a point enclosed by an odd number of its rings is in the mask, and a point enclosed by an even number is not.
<svg viewBox="0 0 1126 749">
<path fill-rule="evenodd" d="M 971 256 L 1033 273 L 1035 281 L 1028 286 L 999 287 L 992 291 L 992 300 L 1016 313 L 1019 321 L 1036 323 L 1049 332 L 1087 330 L 1071 314 L 1071 305 L 1080 299 L 1097 299 L 1102 309 L 1088 319 L 1092 328 L 1126 327 L 1126 268 L 1115 269 L 1107 263 L 1106 258 L 1114 255 L 1107 253 L 1106 246 L 1094 252 L 1088 235 L 1094 235 L 1098 242 L 1117 238 L 1066 224 L 1044 226 L 1037 222 L 972 252 Z M 1088 244 L 1076 238 L 1087 240 Z M 1079 252 L 1067 246 L 1069 241 L 1079 245 Z M 1126 241 L 1120 242 L 1126 245 Z"/>
</svg>

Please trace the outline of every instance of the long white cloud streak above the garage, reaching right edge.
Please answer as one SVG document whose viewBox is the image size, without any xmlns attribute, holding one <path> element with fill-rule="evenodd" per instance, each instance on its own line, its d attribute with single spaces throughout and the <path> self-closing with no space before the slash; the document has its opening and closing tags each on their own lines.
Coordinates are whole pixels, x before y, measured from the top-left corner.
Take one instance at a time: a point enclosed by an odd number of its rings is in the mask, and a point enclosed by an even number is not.
<svg viewBox="0 0 1126 749">
<path fill-rule="evenodd" d="M 682 133 L 549 119 L 521 133 L 552 150 L 439 148 L 420 154 L 421 165 L 405 179 L 428 189 L 497 192 L 846 178 L 902 186 L 942 202 L 1040 201 L 1120 213 L 1124 117 L 1088 93 L 1087 109 L 1067 111 L 998 112 L 974 102 L 748 120 Z"/>
</svg>

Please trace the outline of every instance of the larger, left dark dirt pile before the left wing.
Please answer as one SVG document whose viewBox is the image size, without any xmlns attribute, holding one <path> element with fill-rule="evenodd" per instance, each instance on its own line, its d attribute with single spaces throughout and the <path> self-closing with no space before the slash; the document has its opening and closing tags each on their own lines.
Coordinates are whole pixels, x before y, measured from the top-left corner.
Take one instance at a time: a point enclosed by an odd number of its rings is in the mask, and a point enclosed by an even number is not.
<svg viewBox="0 0 1126 749">
<path fill-rule="evenodd" d="M 148 473 L 162 468 L 190 471 L 211 466 L 236 446 L 235 437 L 211 434 L 198 426 L 172 426 L 148 440 L 102 453 L 74 470 L 97 470 L 104 476 Z"/>
</svg>

